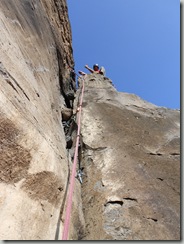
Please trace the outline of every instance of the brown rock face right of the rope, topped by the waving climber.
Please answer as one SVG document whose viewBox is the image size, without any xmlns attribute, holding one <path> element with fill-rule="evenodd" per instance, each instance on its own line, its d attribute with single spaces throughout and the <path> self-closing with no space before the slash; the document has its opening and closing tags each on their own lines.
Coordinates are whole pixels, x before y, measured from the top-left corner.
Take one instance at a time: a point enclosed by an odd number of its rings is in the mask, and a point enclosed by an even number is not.
<svg viewBox="0 0 184 244">
<path fill-rule="evenodd" d="M 88 75 L 83 240 L 180 239 L 179 116 Z"/>
</svg>

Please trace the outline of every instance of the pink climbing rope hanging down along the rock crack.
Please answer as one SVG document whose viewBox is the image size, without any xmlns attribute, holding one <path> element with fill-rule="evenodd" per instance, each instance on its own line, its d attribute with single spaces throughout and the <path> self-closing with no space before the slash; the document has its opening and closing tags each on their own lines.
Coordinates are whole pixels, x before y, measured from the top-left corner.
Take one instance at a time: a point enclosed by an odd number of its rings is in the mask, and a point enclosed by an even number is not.
<svg viewBox="0 0 184 244">
<path fill-rule="evenodd" d="M 75 146 L 75 153 L 74 153 L 74 159 L 73 159 L 73 167 L 72 167 L 72 174 L 70 178 L 70 186 L 69 186 L 69 193 L 68 193 L 68 199 L 66 204 L 66 216 L 64 221 L 64 229 L 63 229 L 63 236 L 62 240 L 68 239 L 68 232 L 69 232 L 69 225 L 70 225 L 70 216 L 71 216 L 71 209 L 72 209 L 72 197 L 73 197 L 73 191 L 74 191 L 74 183 L 75 183 L 75 175 L 76 175 L 76 166 L 77 166 L 77 157 L 78 157 L 78 147 L 79 147 L 79 139 L 80 139 L 80 128 L 81 128 L 81 112 L 82 112 L 82 103 L 83 103 L 83 96 L 84 96 L 84 81 L 85 77 L 82 77 L 82 92 L 81 92 L 81 98 L 78 108 L 78 120 L 77 120 L 77 140 L 76 140 L 76 146 Z"/>
</svg>

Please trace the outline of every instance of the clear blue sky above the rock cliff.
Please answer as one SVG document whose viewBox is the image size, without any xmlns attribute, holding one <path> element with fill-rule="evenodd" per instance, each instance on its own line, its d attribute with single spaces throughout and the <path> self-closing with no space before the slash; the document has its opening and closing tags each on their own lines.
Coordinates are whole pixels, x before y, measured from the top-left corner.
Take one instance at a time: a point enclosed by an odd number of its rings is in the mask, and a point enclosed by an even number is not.
<svg viewBox="0 0 184 244">
<path fill-rule="evenodd" d="M 75 70 L 104 66 L 120 92 L 180 108 L 179 0 L 67 0 Z"/>
</svg>

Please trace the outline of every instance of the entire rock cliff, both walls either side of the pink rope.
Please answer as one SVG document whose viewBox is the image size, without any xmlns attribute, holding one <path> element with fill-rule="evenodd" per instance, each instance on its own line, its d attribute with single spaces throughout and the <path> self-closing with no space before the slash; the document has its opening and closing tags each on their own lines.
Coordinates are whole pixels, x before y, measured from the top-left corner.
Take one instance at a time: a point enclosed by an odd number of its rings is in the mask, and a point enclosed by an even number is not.
<svg viewBox="0 0 184 244">
<path fill-rule="evenodd" d="M 1 0 L 0 29 L 0 239 L 58 240 L 81 88 L 66 1 Z M 87 76 L 69 240 L 180 239 L 179 116 Z"/>
</svg>

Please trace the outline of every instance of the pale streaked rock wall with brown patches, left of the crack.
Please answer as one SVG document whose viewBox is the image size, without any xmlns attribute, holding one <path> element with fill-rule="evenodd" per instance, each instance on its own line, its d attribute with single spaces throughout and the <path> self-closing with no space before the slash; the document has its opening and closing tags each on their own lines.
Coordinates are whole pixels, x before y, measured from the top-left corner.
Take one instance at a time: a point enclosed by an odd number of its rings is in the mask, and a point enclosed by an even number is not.
<svg viewBox="0 0 184 244">
<path fill-rule="evenodd" d="M 0 239 L 54 240 L 70 166 L 62 114 L 74 98 L 66 2 L 1 0 L 0 29 Z"/>
</svg>

